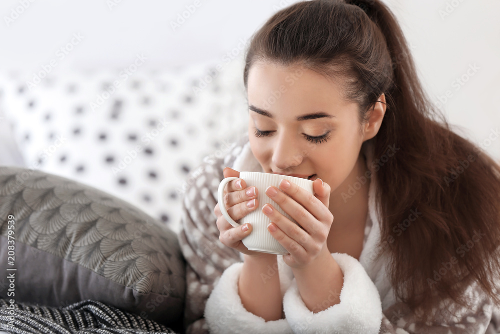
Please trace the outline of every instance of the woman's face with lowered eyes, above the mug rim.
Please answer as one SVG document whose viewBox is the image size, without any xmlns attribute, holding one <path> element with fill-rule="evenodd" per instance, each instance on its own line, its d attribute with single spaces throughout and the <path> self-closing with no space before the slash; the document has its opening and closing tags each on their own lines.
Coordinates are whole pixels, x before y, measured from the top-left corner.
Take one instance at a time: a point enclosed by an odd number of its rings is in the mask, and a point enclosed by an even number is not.
<svg viewBox="0 0 500 334">
<path fill-rule="evenodd" d="M 334 191 L 358 161 L 364 136 L 357 104 L 340 86 L 303 67 L 262 62 L 249 71 L 248 135 L 266 173 L 320 178 Z"/>
</svg>

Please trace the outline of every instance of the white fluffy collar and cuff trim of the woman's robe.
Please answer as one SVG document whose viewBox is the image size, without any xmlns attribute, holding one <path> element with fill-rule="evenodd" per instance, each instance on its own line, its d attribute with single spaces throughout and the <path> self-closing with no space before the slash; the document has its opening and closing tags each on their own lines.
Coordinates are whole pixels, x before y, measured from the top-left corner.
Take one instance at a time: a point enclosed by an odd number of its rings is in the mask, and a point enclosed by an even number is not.
<svg viewBox="0 0 500 334">
<path fill-rule="evenodd" d="M 367 149 L 365 153 L 369 168 L 371 150 Z M 242 166 L 254 166 L 255 171 L 261 171 L 258 163 L 255 165 L 249 145 L 243 148 L 240 157 L 235 161 L 234 169 L 241 171 Z M 377 334 L 382 321 L 382 304 L 387 307 L 394 302 L 394 298 L 386 276 L 384 257 L 373 261 L 378 252 L 375 246 L 380 239 L 373 184 L 370 183 L 367 217 L 371 219 L 372 227 L 359 261 L 347 254 L 331 254 L 344 275 L 340 303 L 317 313 L 310 311 L 300 297 L 291 269 L 278 255 L 285 318 L 264 321 L 243 307 L 237 288 L 243 263 L 235 263 L 223 272 L 206 302 L 204 316 L 210 332 Z"/>
</svg>

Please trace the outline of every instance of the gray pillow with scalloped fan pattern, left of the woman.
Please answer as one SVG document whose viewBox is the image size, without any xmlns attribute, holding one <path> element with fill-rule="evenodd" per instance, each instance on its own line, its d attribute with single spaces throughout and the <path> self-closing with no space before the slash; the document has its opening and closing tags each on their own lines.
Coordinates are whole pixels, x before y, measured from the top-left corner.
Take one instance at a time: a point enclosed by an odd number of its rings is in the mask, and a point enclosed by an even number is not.
<svg viewBox="0 0 500 334">
<path fill-rule="evenodd" d="M 177 236 L 127 202 L 63 177 L 0 167 L 0 226 L 1 298 L 46 306 L 92 299 L 166 325 L 182 319 Z"/>
</svg>

